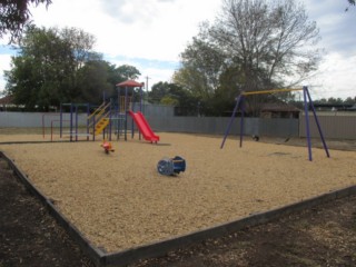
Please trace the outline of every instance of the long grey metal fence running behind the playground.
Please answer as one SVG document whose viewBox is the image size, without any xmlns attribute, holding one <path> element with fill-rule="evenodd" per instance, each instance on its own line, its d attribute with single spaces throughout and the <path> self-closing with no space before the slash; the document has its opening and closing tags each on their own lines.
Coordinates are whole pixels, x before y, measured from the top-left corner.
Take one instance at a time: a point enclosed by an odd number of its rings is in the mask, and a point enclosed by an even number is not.
<svg viewBox="0 0 356 267">
<path fill-rule="evenodd" d="M 191 132 L 224 135 L 230 118 L 226 117 L 175 117 L 171 107 L 145 106 L 144 113 L 155 131 Z M 318 116 L 323 134 L 326 138 L 356 139 L 356 112 L 350 116 L 327 115 Z M 69 113 L 63 115 L 65 126 L 70 119 Z M 310 136 L 319 137 L 314 117 L 310 115 Z M 86 126 L 87 115 L 78 115 L 78 126 Z M 131 119 L 128 121 L 131 126 Z M 58 127 L 59 113 L 40 112 L 0 112 L 0 128 L 4 127 Z M 306 121 L 304 115 L 299 119 L 266 119 L 245 118 L 245 135 L 269 137 L 306 137 Z M 235 118 L 230 135 L 239 135 L 240 118 Z M 1 134 L 1 131 L 0 131 Z"/>
</svg>

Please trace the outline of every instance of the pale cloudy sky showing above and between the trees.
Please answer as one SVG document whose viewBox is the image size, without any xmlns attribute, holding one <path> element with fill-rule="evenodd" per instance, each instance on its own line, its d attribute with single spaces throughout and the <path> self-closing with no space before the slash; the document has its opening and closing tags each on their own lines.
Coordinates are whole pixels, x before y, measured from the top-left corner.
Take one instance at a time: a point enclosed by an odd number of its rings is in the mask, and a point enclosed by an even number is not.
<svg viewBox="0 0 356 267">
<path fill-rule="evenodd" d="M 205 20 L 214 21 L 222 0 L 53 0 L 31 9 L 39 27 L 76 27 L 97 38 L 95 50 L 105 60 L 139 69 L 149 87 L 170 81 L 179 53 Z M 309 86 L 312 98 L 356 97 L 356 8 L 346 0 L 301 0 L 317 22 L 325 49 L 324 61 Z M 11 50 L 0 40 L 0 91 L 3 70 L 10 69 Z M 148 77 L 148 79 L 147 79 Z"/>
</svg>

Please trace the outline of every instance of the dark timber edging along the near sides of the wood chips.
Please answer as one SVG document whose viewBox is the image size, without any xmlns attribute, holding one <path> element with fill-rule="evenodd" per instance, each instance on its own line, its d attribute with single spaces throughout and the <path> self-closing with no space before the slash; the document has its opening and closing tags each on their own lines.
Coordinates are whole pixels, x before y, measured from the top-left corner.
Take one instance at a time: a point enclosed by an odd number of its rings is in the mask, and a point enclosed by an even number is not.
<svg viewBox="0 0 356 267">
<path fill-rule="evenodd" d="M 215 238 L 222 235 L 227 235 L 247 227 L 266 224 L 271 220 L 278 219 L 281 216 L 287 216 L 293 212 L 301 211 L 304 209 L 309 209 L 320 204 L 335 200 L 338 198 L 356 195 L 356 186 L 350 186 L 339 190 L 333 190 L 317 197 L 308 198 L 305 200 L 301 199 L 299 202 L 271 209 L 266 212 L 253 214 L 248 217 L 237 219 L 231 222 L 217 225 L 211 228 L 190 233 L 188 235 L 178 236 L 178 237 L 174 237 L 162 241 L 152 243 L 152 244 L 135 247 L 135 248 L 129 248 L 118 253 L 107 254 L 100 250 L 99 248 L 93 247 L 90 244 L 90 241 L 77 229 L 77 227 L 73 226 L 56 208 L 52 201 L 49 198 L 47 198 L 38 188 L 36 188 L 36 186 L 33 186 L 29 181 L 27 176 L 16 166 L 14 161 L 12 161 L 9 157 L 7 157 L 6 154 L 0 151 L 0 157 L 1 156 L 7 159 L 7 161 L 9 162 L 11 168 L 14 170 L 20 181 L 24 184 L 27 189 L 43 202 L 43 205 L 48 208 L 48 210 L 55 217 L 55 219 L 79 244 L 81 249 L 88 255 L 90 259 L 92 259 L 92 261 L 97 266 L 122 266 L 134 261 L 138 261 L 139 259 L 164 256 L 168 251 L 177 249 L 182 246 L 191 245 L 194 243 L 199 243 L 208 238 Z"/>
</svg>

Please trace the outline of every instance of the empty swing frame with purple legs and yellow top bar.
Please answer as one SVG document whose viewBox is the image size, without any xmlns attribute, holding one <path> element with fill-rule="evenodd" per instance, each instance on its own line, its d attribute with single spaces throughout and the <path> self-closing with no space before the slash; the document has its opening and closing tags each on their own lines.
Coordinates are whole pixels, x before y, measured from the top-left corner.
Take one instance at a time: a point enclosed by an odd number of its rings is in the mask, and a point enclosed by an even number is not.
<svg viewBox="0 0 356 267">
<path fill-rule="evenodd" d="M 243 147 L 243 138 L 244 138 L 244 134 L 245 134 L 244 132 L 244 116 L 245 116 L 245 111 L 246 111 L 245 110 L 245 98 L 246 97 L 251 96 L 251 95 L 277 93 L 277 92 L 301 91 L 301 90 L 303 90 L 303 96 L 304 96 L 304 112 L 305 112 L 305 119 L 306 119 L 306 136 L 307 136 L 309 161 L 313 160 L 313 156 L 312 156 L 310 130 L 309 130 L 309 113 L 308 113 L 309 109 L 308 109 L 308 103 L 309 103 L 309 107 L 310 107 L 310 109 L 313 111 L 314 119 L 315 119 L 315 122 L 317 125 L 317 128 L 318 128 L 318 131 L 319 131 L 320 139 L 323 141 L 323 146 L 324 146 L 326 156 L 329 158 L 330 155 L 329 155 L 328 148 L 326 146 L 325 138 L 324 138 L 324 135 L 323 135 L 323 131 L 322 131 L 322 127 L 320 127 L 318 117 L 316 115 L 316 111 L 315 111 L 315 108 L 314 108 L 314 105 L 313 105 L 313 100 L 312 100 L 312 97 L 310 97 L 310 93 L 309 93 L 309 90 L 308 90 L 307 87 L 303 87 L 301 89 L 274 89 L 274 90 L 263 90 L 263 91 L 249 91 L 249 92 L 243 92 L 241 95 L 239 95 L 237 97 L 237 99 L 236 99 L 236 105 L 235 105 L 230 121 L 229 121 L 229 123 L 227 126 L 227 129 L 225 131 L 224 139 L 222 139 L 220 148 L 221 149 L 224 148 L 226 138 L 230 132 L 234 119 L 235 119 L 236 113 L 237 113 L 238 110 L 240 110 L 240 112 L 241 112 L 241 117 L 240 117 L 240 147 Z"/>
</svg>

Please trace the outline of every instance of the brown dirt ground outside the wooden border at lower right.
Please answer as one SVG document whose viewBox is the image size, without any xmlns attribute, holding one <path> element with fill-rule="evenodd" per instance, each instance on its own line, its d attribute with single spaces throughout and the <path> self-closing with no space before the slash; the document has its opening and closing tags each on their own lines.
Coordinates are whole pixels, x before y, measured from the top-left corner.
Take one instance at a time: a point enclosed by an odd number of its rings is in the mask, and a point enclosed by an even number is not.
<svg viewBox="0 0 356 267">
<path fill-rule="evenodd" d="M 355 251 L 354 196 L 129 266 L 355 266 Z"/>
</svg>

